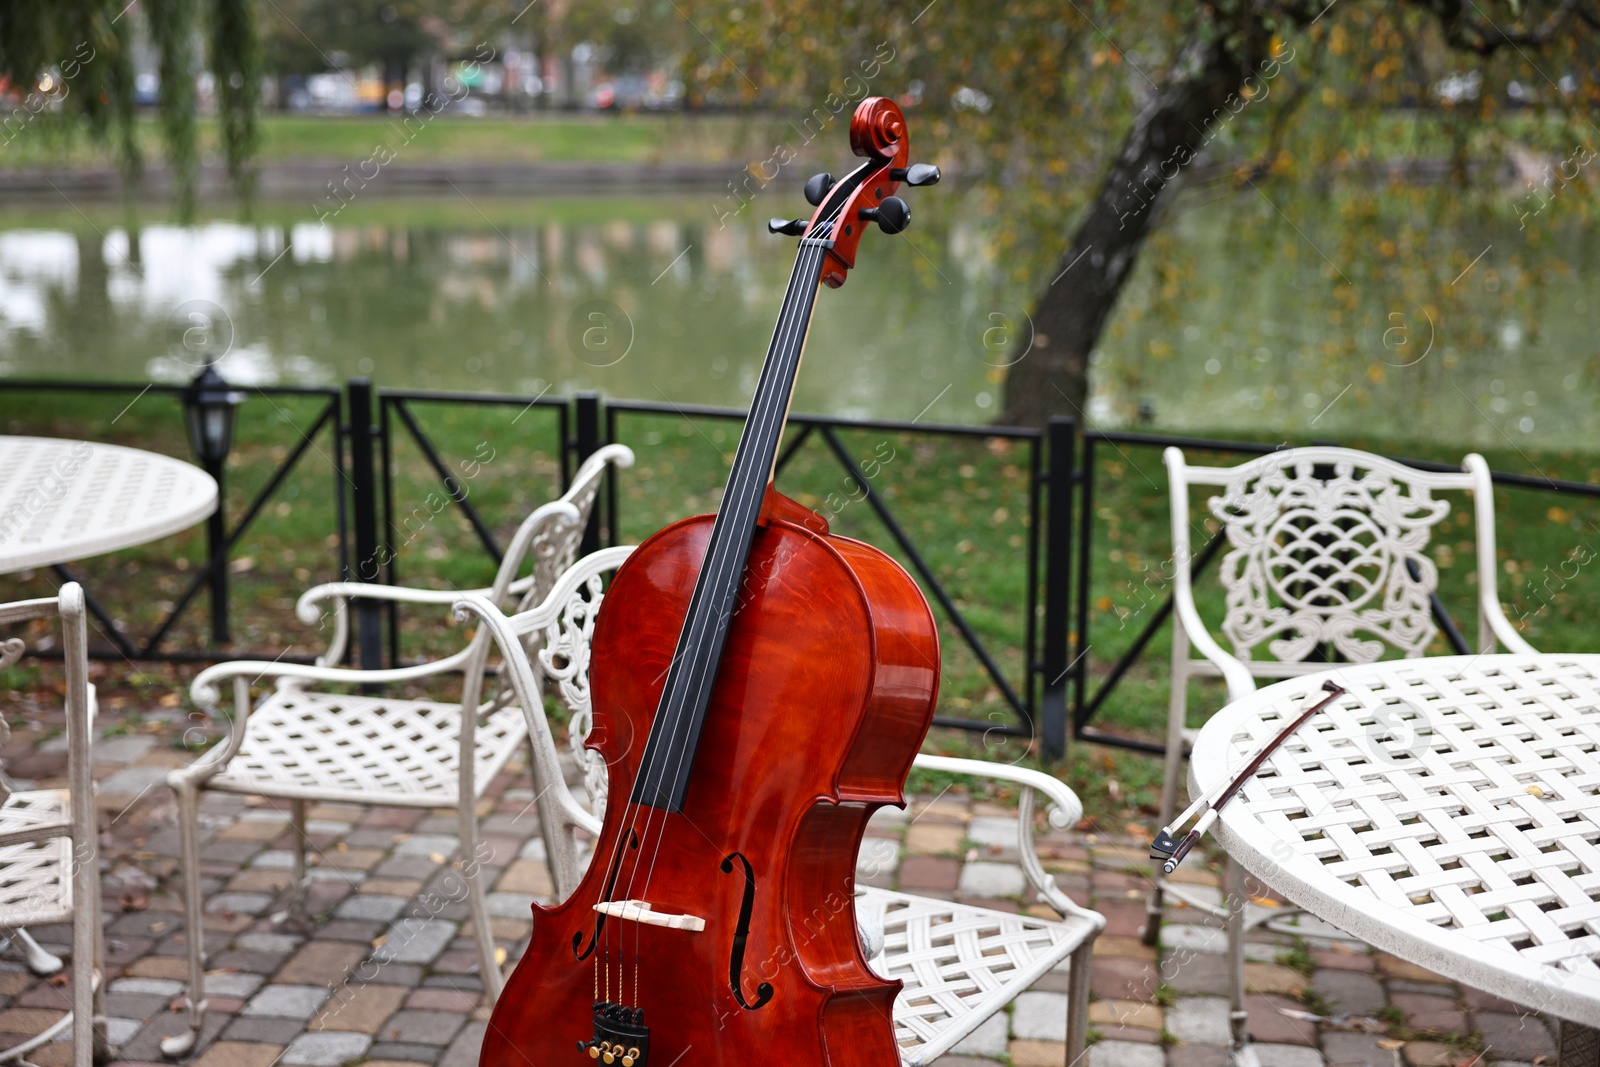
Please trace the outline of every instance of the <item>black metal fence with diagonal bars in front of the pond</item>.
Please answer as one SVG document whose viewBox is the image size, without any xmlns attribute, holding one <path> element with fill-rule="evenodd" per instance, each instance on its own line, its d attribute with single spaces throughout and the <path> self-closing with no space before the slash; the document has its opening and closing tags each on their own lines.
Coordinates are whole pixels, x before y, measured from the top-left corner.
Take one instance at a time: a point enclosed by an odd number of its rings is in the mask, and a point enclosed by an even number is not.
<svg viewBox="0 0 1600 1067">
<path fill-rule="evenodd" d="M 182 387 L 144 384 L 86 384 L 64 381 L 16 381 L 3 382 L 5 390 L 30 394 L 110 394 L 136 400 L 146 394 L 181 398 Z M 254 520 L 288 475 L 304 466 L 306 456 L 315 451 L 326 464 L 334 496 L 336 530 L 328 536 L 334 552 L 334 573 L 349 581 L 398 582 L 402 573 L 395 545 L 405 517 L 400 514 L 395 494 L 397 450 L 414 448 L 426 467 L 437 475 L 445 496 L 470 526 L 485 555 L 499 561 L 502 549 L 494 537 L 493 525 L 469 499 L 461 480 L 434 437 L 426 429 L 419 413 L 446 405 L 470 405 L 474 408 L 499 408 L 515 411 L 512 424 L 525 440 L 544 440 L 550 454 L 558 458 L 560 482 L 568 485 L 578 464 L 608 442 L 624 440 L 629 427 L 650 419 L 675 416 L 736 424 L 744 413 L 733 408 L 682 406 L 670 403 L 611 402 L 603 403 L 594 394 L 579 394 L 571 400 L 552 397 L 523 397 L 506 394 L 462 394 L 427 390 L 376 389 L 366 379 L 352 379 L 344 389 L 336 387 L 272 387 L 251 389 L 250 395 L 320 398 L 317 413 L 307 426 L 296 426 L 299 440 L 277 462 L 264 486 L 238 510 L 237 517 L 224 517 L 211 530 L 206 563 L 194 573 L 176 598 L 165 619 L 144 638 L 134 638 L 114 625 L 112 614 L 96 601 L 91 611 L 101 622 L 110 648 L 101 654 L 128 659 L 195 661 L 238 656 L 282 657 L 277 651 L 246 653 L 232 648 L 216 648 L 208 653 L 171 651 L 165 648 L 173 625 L 178 622 L 202 589 L 211 590 L 211 633 L 216 643 L 226 643 L 229 632 L 227 573 L 229 561 L 250 536 Z M 275 405 L 274 405 L 275 406 Z M 525 416 L 536 413 L 522 424 Z M 178 416 L 174 416 L 178 418 Z M 842 434 L 882 432 L 914 438 L 939 440 L 1003 440 L 1019 448 L 1027 478 L 1027 515 L 1018 523 L 1022 528 L 1022 581 L 1014 590 L 1016 611 L 1021 616 L 1021 670 L 1002 665 L 1002 651 L 994 638 L 984 640 L 979 629 L 960 605 L 938 569 L 930 565 L 925 545 L 918 542 L 910 526 L 902 522 L 896 501 L 880 491 L 861 462 L 851 454 Z M 326 448 L 318 445 L 326 442 Z M 1037 739 L 1043 755 L 1054 758 L 1066 750 L 1069 736 L 1136 750 L 1158 752 L 1160 745 L 1107 733 L 1094 725 L 1107 697 L 1125 681 L 1128 672 L 1147 651 L 1152 638 L 1166 625 L 1173 611 L 1168 593 L 1144 619 L 1131 645 L 1115 661 L 1091 661 L 1094 648 L 1094 613 L 1091 590 L 1094 587 L 1096 485 L 1104 477 L 1102 466 L 1109 450 L 1123 458 L 1130 450 L 1154 450 L 1165 446 L 1205 451 L 1213 454 L 1254 456 L 1274 451 L 1270 445 L 1250 442 L 1226 442 L 1198 437 L 1158 434 L 1125 434 L 1090 430 L 1078 432 L 1072 419 L 1053 419 L 1042 432 L 1022 427 L 997 426 L 931 426 L 922 422 L 894 422 L 875 419 L 842 419 L 795 414 L 790 418 L 790 435 L 778 459 L 784 470 L 802 454 L 813 450 L 826 462 L 835 464 L 843 477 L 859 488 L 859 499 L 875 517 L 885 534 L 885 547 L 893 547 L 907 565 L 934 606 L 936 616 L 954 630 L 965 649 L 973 656 L 1000 702 L 1006 710 L 1005 721 L 976 720 L 960 715 L 941 715 L 944 726 L 1002 733 Z M 1282 448 L 1282 445 L 1278 446 Z M 1445 464 L 1402 459 L 1429 470 L 1451 469 Z M 213 470 L 219 478 L 226 470 Z M 621 475 L 626 478 L 627 475 Z M 928 477 L 928 475 L 923 475 Z M 931 477 L 939 477 L 934 472 Z M 1573 494 L 1600 499 L 1600 485 L 1562 482 L 1541 477 L 1496 472 L 1496 485 L 1544 490 L 1557 494 Z M 621 528 L 619 510 L 622 494 L 619 478 L 608 478 L 602 506 L 597 509 L 586 549 L 602 542 L 616 542 Z M 1219 555 L 1221 539 L 1213 537 L 1190 561 L 1198 574 Z M 1006 552 L 1000 544 L 979 545 L 976 550 Z M 56 573 L 62 581 L 74 577 L 66 566 Z M 1459 629 L 1435 600 L 1435 616 L 1446 640 L 1466 651 Z M 221 637 L 218 637 L 221 635 Z M 392 605 L 376 601 L 357 606 L 357 640 L 350 653 L 363 667 L 400 662 L 400 627 L 392 614 Z M 1093 665 L 1091 665 L 1093 662 Z"/>
</svg>

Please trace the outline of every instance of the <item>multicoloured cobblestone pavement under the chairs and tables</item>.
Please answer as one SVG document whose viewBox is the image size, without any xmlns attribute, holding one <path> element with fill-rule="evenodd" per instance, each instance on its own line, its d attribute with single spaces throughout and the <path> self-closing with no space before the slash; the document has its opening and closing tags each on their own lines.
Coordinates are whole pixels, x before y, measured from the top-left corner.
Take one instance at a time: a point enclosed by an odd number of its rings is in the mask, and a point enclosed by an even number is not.
<svg viewBox="0 0 1600 1067">
<path fill-rule="evenodd" d="M 64 771 L 62 749 L 43 720 L 16 728 L 0 757 L 14 777 L 46 784 Z M 125 1064 L 158 1062 L 158 1040 L 182 1025 L 176 1006 L 186 974 L 176 806 L 163 777 L 190 757 L 166 734 L 139 729 L 104 737 L 96 753 L 110 1040 Z M 550 891 L 530 801 L 525 781 L 507 773 L 482 811 L 490 912 L 509 952 L 528 933 L 528 905 Z M 955 793 L 922 798 L 910 819 L 875 821 L 870 833 L 891 843 L 869 841 L 862 853 L 874 880 L 894 888 L 1045 909 L 1018 896 L 1024 878 L 1014 817 Z M 453 813 L 314 808 L 309 921 L 274 921 L 290 880 L 286 805 L 210 797 L 203 819 L 210 1016 L 190 1062 L 477 1062 L 486 1014 L 466 905 L 448 867 Z M 1062 888 L 1109 921 L 1093 965 L 1090 1067 L 1221 1067 L 1227 1008 L 1216 923 L 1174 905 L 1163 949 L 1147 949 L 1139 933 L 1149 862 L 1139 841 L 1051 832 L 1038 843 Z M 1181 873 L 1195 893 L 1219 896 L 1216 877 L 1198 864 Z M 34 933 L 46 945 L 69 942 L 64 926 Z M 384 961 L 373 961 L 374 953 Z M 1501 1062 L 1554 1059 L 1552 1027 L 1539 1016 L 1360 945 L 1254 934 L 1250 960 L 1251 1030 L 1264 1067 L 1464 1067 L 1485 1048 Z M 37 979 L 6 953 L 0 1046 L 42 1030 L 69 997 L 61 977 Z M 1064 1014 L 1066 974 L 1046 974 L 1010 1014 L 941 1062 L 1059 1065 Z M 34 1061 L 66 1064 L 69 1048 L 46 1046 Z"/>
</svg>

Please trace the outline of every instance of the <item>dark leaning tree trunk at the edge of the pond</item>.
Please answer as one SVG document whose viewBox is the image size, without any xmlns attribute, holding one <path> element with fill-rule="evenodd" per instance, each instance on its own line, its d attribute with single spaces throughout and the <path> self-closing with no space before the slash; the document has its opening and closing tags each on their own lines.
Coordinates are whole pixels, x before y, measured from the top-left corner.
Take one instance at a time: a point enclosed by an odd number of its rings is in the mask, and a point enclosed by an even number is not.
<svg viewBox="0 0 1600 1067">
<path fill-rule="evenodd" d="M 1205 142 L 1246 106 L 1240 88 L 1266 54 L 1259 26 L 1238 34 L 1234 50 L 1222 45 L 1226 38 L 1219 30 L 1208 43 L 1187 45 L 1134 118 L 1051 282 L 1035 299 L 1032 336 L 1019 338 L 1032 349 L 1011 357 L 1018 362 L 1005 386 L 1003 424 L 1042 427 L 1053 414 L 1085 424 L 1090 352 L 1133 274 L 1157 208 Z"/>
</svg>

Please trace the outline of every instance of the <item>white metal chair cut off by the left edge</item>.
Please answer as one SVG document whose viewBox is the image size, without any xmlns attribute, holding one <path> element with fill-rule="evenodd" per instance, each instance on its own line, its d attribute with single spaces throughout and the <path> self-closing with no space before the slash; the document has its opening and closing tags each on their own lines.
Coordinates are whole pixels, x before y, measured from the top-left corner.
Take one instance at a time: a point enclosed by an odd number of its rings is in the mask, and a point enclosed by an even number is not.
<svg viewBox="0 0 1600 1067">
<path fill-rule="evenodd" d="M 72 923 L 72 1011 L 45 1032 L 0 1053 L 0 1062 L 18 1061 L 70 1027 L 72 1062 L 90 1067 L 96 1054 L 104 1056 L 107 1049 L 99 987 L 99 833 L 90 766 L 94 688 L 88 681 L 83 589 L 67 582 L 56 597 L 0 605 L 3 625 L 51 616 L 61 617 L 66 664 L 67 787 L 11 792 L 0 784 L 0 929 L 21 936 L 32 955 L 43 950 L 27 937 L 24 926 Z M 24 651 L 21 638 L 0 641 L 0 670 Z M 3 718 L 0 729 L 5 729 Z"/>
</svg>

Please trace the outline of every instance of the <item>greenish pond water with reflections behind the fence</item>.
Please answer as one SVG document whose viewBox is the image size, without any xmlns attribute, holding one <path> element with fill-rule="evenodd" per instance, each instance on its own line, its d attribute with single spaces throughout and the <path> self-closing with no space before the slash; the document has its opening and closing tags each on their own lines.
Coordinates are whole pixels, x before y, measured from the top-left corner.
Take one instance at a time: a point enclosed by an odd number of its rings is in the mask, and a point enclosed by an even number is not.
<svg viewBox="0 0 1600 1067">
<path fill-rule="evenodd" d="M 243 384 L 366 374 L 738 406 L 794 242 L 765 232 L 776 198 L 722 227 L 710 200 L 394 200 L 326 226 L 294 205 L 195 226 L 6 208 L 0 374 L 182 381 L 226 350 L 224 374 Z M 1189 211 L 1147 250 L 1094 357 L 1101 424 L 1600 442 L 1590 237 L 1539 250 L 1515 226 L 1454 234 L 1454 261 L 1483 254 L 1438 293 L 1365 274 L 1341 291 L 1323 254 L 1338 235 L 1258 208 Z M 944 214 L 872 234 L 848 285 L 822 291 L 797 411 L 995 418 L 1005 371 L 989 346 L 1026 328 L 1027 293 L 1002 282 L 971 222 Z"/>
</svg>

